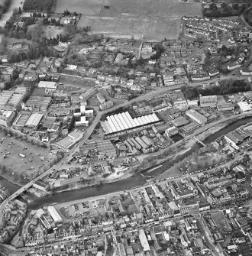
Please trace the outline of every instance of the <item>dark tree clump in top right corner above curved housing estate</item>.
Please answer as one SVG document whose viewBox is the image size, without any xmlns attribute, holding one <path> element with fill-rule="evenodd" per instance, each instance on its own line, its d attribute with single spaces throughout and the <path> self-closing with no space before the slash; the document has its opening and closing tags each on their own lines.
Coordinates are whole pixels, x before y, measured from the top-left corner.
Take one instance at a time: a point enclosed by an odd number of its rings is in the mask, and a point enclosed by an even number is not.
<svg viewBox="0 0 252 256">
<path fill-rule="evenodd" d="M 206 17 L 228 17 L 241 15 L 246 5 L 238 5 L 237 3 L 229 6 L 227 3 L 222 3 L 221 8 L 218 8 L 215 3 L 212 3 L 209 8 L 203 8 L 203 15 Z"/>
</svg>

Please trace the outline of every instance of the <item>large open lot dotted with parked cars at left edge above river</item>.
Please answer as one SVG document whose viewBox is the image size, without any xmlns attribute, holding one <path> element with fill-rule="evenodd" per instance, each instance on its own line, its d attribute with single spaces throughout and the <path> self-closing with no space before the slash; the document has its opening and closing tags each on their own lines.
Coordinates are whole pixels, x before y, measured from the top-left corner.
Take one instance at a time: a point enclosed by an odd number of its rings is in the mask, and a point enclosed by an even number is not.
<svg viewBox="0 0 252 256">
<path fill-rule="evenodd" d="M 42 171 L 44 167 L 48 167 L 50 160 L 53 160 L 53 156 L 49 154 L 47 148 L 33 145 L 21 138 L 8 137 L 3 132 L 0 132 L 0 138 L 5 138 L 0 146 L 0 163 L 15 173 L 24 173 L 26 176 L 32 177 L 35 170 L 40 167 L 37 172 Z M 9 152 L 8 157 L 4 158 L 3 155 L 7 152 Z M 20 157 L 20 153 L 26 157 Z M 40 157 L 44 157 L 44 160 L 41 160 Z"/>
</svg>

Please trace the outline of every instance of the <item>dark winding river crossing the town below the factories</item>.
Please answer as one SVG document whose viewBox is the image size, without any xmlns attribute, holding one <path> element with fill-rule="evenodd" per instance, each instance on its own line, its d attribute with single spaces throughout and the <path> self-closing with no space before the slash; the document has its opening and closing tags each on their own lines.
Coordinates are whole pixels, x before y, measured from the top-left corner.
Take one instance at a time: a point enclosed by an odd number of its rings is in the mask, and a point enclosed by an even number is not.
<svg viewBox="0 0 252 256">
<path fill-rule="evenodd" d="M 217 138 L 225 134 L 228 134 L 231 131 L 234 131 L 240 126 L 246 125 L 248 122 L 252 122 L 252 117 L 243 118 L 236 122 L 233 122 L 231 125 L 228 125 L 225 128 L 222 128 L 220 131 L 215 132 L 208 138 L 205 138 L 203 142 L 205 144 L 209 144 L 212 141 L 215 141 Z M 157 169 L 151 172 L 150 171 L 148 172 L 148 170 L 146 170 L 143 173 L 146 173 L 147 175 L 157 176 L 160 173 L 163 173 L 168 168 L 170 168 L 173 164 L 183 160 L 185 157 L 188 157 L 189 154 L 192 154 L 192 152 L 196 151 L 200 147 L 201 145 L 196 143 L 194 146 L 192 146 L 192 148 L 189 151 L 186 151 L 185 154 L 182 154 L 179 157 L 177 157 L 176 160 L 166 161 Z M 146 183 L 145 178 L 142 177 L 140 173 L 137 173 L 133 177 L 129 177 L 126 180 L 120 180 L 118 182 L 111 183 L 111 184 L 103 184 L 101 187 L 92 186 L 92 187 L 83 188 L 79 190 L 69 190 L 63 193 L 56 193 L 51 196 L 44 196 L 34 200 L 34 202 L 31 203 L 28 207 L 30 209 L 38 209 L 51 203 L 65 203 L 65 202 L 69 202 L 76 199 L 85 199 L 90 196 L 101 196 L 107 193 L 113 193 L 121 190 L 128 190 L 136 186 L 144 185 L 144 183 Z M 5 185 L 5 187 L 8 190 L 10 190 L 11 193 L 14 193 L 16 190 L 18 190 L 18 186 L 15 186 L 15 185 L 13 186 L 12 183 L 9 183 L 6 180 L 0 180 L 0 184 L 2 186 Z"/>
</svg>

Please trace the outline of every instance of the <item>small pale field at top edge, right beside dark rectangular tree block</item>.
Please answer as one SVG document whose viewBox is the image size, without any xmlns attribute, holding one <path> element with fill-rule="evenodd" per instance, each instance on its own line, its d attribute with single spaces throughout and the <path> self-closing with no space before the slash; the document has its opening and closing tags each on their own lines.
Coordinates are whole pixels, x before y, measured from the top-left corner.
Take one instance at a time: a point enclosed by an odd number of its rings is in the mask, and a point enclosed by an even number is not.
<svg viewBox="0 0 252 256">
<path fill-rule="evenodd" d="M 81 13 L 82 15 L 99 15 L 102 8 L 102 0 L 57 0 L 54 12 L 68 11 Z"/>
</svg>

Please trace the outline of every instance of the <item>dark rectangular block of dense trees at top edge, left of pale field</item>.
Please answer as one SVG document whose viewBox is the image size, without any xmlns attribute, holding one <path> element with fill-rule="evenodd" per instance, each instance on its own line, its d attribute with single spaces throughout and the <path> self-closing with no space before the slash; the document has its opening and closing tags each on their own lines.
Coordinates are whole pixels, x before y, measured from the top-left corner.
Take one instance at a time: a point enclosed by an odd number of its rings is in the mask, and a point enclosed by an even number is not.
<svg viewBox="0 0 252 256">
<path fill-rule="evenodd" d="M 53 5 L 53 0 L 25 0 L 23 10 L 51 12 L 53 10 Z"/>
</svg>

